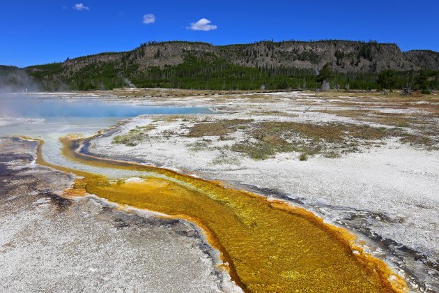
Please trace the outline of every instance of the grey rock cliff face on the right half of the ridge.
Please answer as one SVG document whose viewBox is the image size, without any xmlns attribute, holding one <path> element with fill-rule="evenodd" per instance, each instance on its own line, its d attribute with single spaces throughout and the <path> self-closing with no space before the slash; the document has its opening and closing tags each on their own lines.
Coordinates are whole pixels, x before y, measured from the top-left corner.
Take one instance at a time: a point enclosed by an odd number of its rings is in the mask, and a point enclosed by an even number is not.
<svg viewBox="0 0 439 293">
<path fill-rule="evenodd" d="M 227 59 L 243 66 L 321 68 L 330 62 L 332 69 L 339 72 L 419 69 L 416 63 L 407 61 L 394 44 L 339 40 L 256 43 L 222 47 L 222 52 Z"/>
</svg>

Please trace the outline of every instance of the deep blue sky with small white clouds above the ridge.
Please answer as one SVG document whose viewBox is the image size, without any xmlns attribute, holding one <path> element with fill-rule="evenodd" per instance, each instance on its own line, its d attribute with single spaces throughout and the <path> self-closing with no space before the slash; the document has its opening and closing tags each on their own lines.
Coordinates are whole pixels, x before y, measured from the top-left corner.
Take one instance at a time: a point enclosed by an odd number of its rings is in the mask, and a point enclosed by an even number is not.
<svg viewBox="0 0 439 293">
<path fill-rule="evenodd" d="M 6 65 L 131 50 L 149 40 L 372 39 L 404 51 L 439 51 L 437 0 L 1 2 L 0 64 Z"/>
</svg>

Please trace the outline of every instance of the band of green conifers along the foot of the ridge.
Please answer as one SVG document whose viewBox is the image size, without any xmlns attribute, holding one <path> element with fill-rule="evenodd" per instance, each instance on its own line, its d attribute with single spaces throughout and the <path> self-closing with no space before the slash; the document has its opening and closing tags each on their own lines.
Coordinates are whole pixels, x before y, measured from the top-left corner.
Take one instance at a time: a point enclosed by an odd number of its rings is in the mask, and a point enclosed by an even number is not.
<svg viewBox="0 0 439 293">
<path fill-rule="evenodd" d="M 364 54 L 367 54 L 365 52 Z M 185 52 L 183 63 L 174 66 L 141 68 L 124 59 L 116 62 L 94 62 L 80 70 L 66 71 L 62 63 L 27 68 L 45 90 L 114 89 L 127 86 L 206 90 L 314 89 L 323 81 L 332 88 L 401 89 L 410 87 L 424 92 L 439 89 L 438 70 L 396 71 L 381 73 L 340 73 L 331 63 L 318 72 L 313 69 L 279 66 L 239 66 L 215 54 L 197 55 Z"/>
</svg>

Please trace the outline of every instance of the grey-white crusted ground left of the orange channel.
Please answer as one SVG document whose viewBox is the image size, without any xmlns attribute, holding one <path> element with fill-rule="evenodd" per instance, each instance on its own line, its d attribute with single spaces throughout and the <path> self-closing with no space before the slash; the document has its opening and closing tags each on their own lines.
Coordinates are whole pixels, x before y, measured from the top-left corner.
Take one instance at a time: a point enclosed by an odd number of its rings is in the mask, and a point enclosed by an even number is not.
<svg viewBox="0 0 439 293">
<path fill-rule="evenodd" d="M 35 158 L 0 137 L 1 292 L 241 292 L 194 225 L 63 199 L 72 178 Z"/>
</svg>

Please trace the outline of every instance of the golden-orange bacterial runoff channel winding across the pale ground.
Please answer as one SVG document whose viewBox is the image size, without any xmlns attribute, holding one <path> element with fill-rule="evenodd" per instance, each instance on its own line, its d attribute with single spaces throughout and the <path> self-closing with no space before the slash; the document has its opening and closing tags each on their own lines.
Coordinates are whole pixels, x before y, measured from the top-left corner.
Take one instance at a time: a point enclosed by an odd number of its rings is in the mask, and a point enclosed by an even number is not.
<svg viewBox="0 0 439 293">
<path fill-rule="evenodd" d="M 85 189 L 111 202 L 196 223 L 245 290 L 393 292 L 405 286 L 383 262 L 353 253 L 341 230 L 305 210 L 170 170 L 83 156 L 75 153 L 75 143 L 65 144 L 66 156 L 78 163 L 165 176 L 114 182 L 37 161 L 82 176 L 73 193 Z"/>
</svg>

